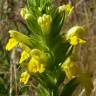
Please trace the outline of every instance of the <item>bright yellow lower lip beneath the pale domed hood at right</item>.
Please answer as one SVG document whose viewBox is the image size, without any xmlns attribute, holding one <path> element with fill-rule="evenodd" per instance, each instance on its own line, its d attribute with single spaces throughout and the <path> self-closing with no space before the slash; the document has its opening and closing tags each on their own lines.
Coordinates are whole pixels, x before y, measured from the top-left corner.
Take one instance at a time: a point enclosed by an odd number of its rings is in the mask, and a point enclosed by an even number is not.
<svg viewBox="0 0 96 96">
<path fill-rule="evenodd" d="M 78 44 L 85 44 L 86 43 L 86 41 L 85 40 L 83 40 L 83 39 L 80 39 L 79 37 L 77 37 L 77 36 L 72 36 L 71 38 L 70 38 L 70 44 L 71 45 L 78 45 Z"/>
</svg>

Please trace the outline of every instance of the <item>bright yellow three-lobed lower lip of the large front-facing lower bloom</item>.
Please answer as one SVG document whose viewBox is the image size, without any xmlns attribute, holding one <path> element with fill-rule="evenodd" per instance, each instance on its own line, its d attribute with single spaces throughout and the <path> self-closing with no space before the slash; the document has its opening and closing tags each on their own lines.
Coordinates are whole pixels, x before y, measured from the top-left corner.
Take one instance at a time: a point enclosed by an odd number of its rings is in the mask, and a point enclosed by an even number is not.
<svg viewBox="0 0 96 96">
<path fill-rule="evenodd" d="M 40 59 L 38 56 L 33 56 L 28 64 L 28 71 L 30 73 L 42 73 L 45 71 L 45 67 L 43 64 L 40 63 Z"/>
</svg>

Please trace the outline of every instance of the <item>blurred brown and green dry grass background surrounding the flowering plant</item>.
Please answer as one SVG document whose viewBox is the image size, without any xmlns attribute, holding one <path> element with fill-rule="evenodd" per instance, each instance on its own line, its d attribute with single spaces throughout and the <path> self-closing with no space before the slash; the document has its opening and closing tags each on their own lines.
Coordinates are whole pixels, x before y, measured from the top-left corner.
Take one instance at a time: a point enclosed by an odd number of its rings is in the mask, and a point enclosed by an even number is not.
<svg viewBox="0 0 96 96">
<path fill-rule="evenodd" d="M 57 6 L 66 3 L 75 6 L 62 32 L 66 32 L 73 25 L 86 28 L 87 44 L 77 47 L 75 56 L 82 71 L 89 70 L 92 73 L 94 89 L 91 96 L 96 96 L 96 0 L 55 0 L 54 3 Z M 9 53 L 5 50 L 9 38 L 8 30 L 27 32 L 26 24 L 20 16 L 20 10 L 25 4 L 26 0 L 0 0 L 0 96 L 34 96 L 32 86 L 18 84 L 19 51 L 13 50 Z M 73 95 L 85 96 L 85 92 L 78 87 Z"/>
</svg>

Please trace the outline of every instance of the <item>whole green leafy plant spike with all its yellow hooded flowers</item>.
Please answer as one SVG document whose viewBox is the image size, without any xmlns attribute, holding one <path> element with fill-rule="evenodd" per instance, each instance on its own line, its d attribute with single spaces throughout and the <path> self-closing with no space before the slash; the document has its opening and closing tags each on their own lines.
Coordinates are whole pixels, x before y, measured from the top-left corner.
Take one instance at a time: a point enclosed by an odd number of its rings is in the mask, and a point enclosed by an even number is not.
<svg viewBox="0 0 96 96">
<path fill-rule="evenodd" d="M 70 4 L 56 7 L 52 0 L 27 0 L 21 16 L 29 34 L 9 31 L 6 50 L 14 47 L 22 50 L 19 64 L 25 71 L 21 73 L 20 82 L 28 84 L 34 78 L 36 83 L 31 84 L 36 96 L 71 96 L 79 84 L 90 96 L 93 87 L 90 75 L 82 73 L 72 60 L 74 47 L 86 43 L 85 30 L 74 26 L 65 34 L 61 33 L 72 9 Z M 66 77 L 68 82 L 64 84 Z"/>
</svg>

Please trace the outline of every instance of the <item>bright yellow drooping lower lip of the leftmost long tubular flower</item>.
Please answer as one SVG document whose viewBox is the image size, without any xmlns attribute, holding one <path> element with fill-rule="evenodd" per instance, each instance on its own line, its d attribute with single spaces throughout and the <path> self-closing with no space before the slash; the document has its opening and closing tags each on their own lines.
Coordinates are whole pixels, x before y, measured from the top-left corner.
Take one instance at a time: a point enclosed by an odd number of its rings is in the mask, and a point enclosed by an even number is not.
<svg viewBox="0 0 96 96">
<path fill-rule="evenodd" d="M 14 38 L 10 38 L 7 45 L 6 45 L 6 50 L 10 51 L 13 49 L 16 45 L 18 44 L 18 41 Z"/>
</svg>

